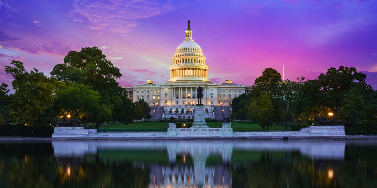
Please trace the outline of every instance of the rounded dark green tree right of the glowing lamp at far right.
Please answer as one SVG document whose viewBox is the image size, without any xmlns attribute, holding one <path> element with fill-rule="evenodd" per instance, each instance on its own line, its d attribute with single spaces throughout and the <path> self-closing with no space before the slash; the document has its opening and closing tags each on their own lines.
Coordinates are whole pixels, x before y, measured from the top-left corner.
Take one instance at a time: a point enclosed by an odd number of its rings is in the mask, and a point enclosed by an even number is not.
<svg viewBox="0 0 377 188">
<path fill-rule="evenodd" d="M 366 105 L 363 96 L 356 88 L 351 88 L 342 100 L 342 109 L 339 110 L 339 118 L 346 123 L 357 123 L 365 120 Z"/>
</svg>

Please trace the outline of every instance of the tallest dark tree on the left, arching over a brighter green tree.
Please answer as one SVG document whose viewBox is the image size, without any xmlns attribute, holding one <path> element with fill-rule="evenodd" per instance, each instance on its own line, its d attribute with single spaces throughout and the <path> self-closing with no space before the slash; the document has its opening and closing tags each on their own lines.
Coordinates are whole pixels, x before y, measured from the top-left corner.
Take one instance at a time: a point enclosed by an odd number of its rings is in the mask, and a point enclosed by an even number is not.
<svg viewBox="0 0 377 188">
<path fill-rule="evenodd" d="M 64 82 L 77 82 L 91 86 L 93 91 L 100 94 L 102 107 L 99 113 L 89 117 L 90 121 L 95 122 L 96 128 L 100 121 L 116 121 L 115 118 L 120 118 L 115 111 L 132 109 L 132 106 L 123 105 L 122 91 L 116 82 L 122 74 L 111 61 L 106 59 L 98 47 L 85 47 L 80 52 L 70 51 L 64 58 L 63 64 L 55 65 L 51 75 Z M 125 104 L 130 105 L 128 102 Z M 129 116 L 128 119 L 132 117 L 132 114 Z"/>
</svg>

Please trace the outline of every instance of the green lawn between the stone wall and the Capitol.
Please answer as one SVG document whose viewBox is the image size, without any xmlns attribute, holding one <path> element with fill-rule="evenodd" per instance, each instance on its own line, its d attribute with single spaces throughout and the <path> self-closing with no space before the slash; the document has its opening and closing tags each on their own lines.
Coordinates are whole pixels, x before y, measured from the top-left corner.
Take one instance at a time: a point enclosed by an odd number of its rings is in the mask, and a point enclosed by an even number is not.
<svg viewBox="0 0 377 188">
<path fill-rule="evenodd" d="M 192 122 L 189 122 L 189 123 L 192 123 Z M 221 128 L 222 121 L 207 122 L 207 125 L 210 128 Z M 146 121 L 146 122 L 130 123 L 128 125 L 116 124 L 116 125 L 100 126 L 100 129 L 110 129 L 110 128 L 168 128 L 168 122 Z M 259 126 L 259 124 L 253 124 L 253 123 L 241 122 L 241 121 L 232 121 L 232 128 L 233 128 L 233 131 L 262 131 L 263 130 L 263 128 Z M 94 129 L 94 126 L 89 127 L 89 129 Z M 285 130 L 285 126 L 273 125 L 272 127 L 270 127 L 270 130 Z"/>
</svg>

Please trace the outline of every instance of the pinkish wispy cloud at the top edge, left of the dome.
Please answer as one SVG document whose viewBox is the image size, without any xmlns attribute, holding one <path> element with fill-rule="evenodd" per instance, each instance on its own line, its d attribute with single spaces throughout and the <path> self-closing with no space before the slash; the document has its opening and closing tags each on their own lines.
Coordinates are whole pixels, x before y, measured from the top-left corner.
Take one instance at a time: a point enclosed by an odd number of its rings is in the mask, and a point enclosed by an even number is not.
<svg viewBox="0 0 377 188">
<path fill-rule="evenodd" d="M 150 0 L 100 0 L 76 1 L 70 17 L 74 22 L 92 30 L 127 33 L 135 27 L 135 19 L 149 18 L 176 9 L 170 1 Z M 100 14 L 99 14 L 100 13 Z"/>
</svg>

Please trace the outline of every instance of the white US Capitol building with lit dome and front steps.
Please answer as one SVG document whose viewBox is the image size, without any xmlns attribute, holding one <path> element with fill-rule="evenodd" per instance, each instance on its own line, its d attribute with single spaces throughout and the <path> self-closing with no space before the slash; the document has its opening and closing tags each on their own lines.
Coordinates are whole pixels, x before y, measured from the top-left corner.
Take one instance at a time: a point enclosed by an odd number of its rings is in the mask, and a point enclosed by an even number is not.
<svg viewBox="0 0 377 188">
<path fill-rule="evenodd" d="M 151 106 L 152 120 L 170 118 L 194 118 L 196 89 L 203 87 L 202 104 L 205 105 L 205 118 L 222 119 L 231 112 L 231 102 L 242 93 L 249 93 L 251 86 L 237 85 L 225 80 L 219 85 L 208 79 L 209 68 L 198 43 L 192 38 L 190 20 L 185 31 L 184 41 L 178 45 L 170 66 L 170 79 L 156 85 L 147 80 L 144 85 L 124 87 L 131 100 L 144 99 Z"/>
</svg>

